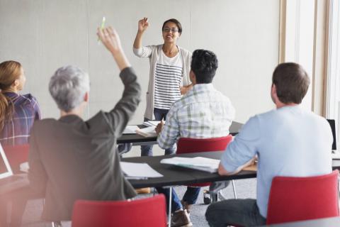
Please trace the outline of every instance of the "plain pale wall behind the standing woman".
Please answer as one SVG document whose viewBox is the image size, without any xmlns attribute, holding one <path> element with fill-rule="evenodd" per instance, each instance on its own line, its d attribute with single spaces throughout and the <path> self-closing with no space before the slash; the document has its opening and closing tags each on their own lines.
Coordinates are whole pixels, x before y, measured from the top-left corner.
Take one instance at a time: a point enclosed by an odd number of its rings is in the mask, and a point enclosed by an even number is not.
<svg viewBox="0 0 340 227">
<path fill-rule="evenodd" d="M 217 54 L 214 84 L 229 96 L 237 121 L 273 108 L 271 73 L 278 63 L 279 0 L 0 0 L 0 62 L 18 60 L 26 70 L 23 92 L 38 98 L 42 116 L 59 112 L 48 93 L 50 76 L 62 65 L 78 65 L 91 78 L 88 114 L 109 110 L 123 91 L 112 57 L 98 45 L 96 27 L 106 16 L 114 26 L 142 84 L 142 102 L 131 123 L 145 111 L 149 61 L 132 53 L 137 21 L 147 16 L 144 44 L 162 43 L 162 23 L 177 18 L 183 26 L 179 45 Z"/>
</svg>

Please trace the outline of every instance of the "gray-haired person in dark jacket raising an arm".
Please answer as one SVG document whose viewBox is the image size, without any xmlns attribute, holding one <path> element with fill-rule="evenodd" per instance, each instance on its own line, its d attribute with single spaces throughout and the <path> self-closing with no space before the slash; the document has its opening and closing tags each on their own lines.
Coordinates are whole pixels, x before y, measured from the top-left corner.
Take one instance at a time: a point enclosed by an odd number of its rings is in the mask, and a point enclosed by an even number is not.
<svg viewBox="0 0 340 227">
<path fill-rule="evenodd" d="M 89 75 L 66 66 L 50 79 L 50 94 L 60 118 L 34 124 L 28 173 L 30 186 L 45 193 L 42 218 L 47 221 L 70 220 L 77 199 L 122 200 L 136 195 L 120 170 L 116 140 L 137 109 L 140 84 L 118 33 L 110 27 L 98 29 L 97 34 L 118 65 L 123 96 L 111 111 L 98 111 L 84 121 L 81 115 L 89 101 Z"/>
</svg>

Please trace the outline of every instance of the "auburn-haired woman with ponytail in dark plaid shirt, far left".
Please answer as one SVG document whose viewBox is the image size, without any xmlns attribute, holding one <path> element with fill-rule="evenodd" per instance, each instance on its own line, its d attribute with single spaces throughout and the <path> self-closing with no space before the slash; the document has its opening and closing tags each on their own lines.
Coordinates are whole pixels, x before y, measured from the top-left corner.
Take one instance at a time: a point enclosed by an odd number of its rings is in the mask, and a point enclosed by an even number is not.
<svg viewBox="0 0 340 227">
<path fill-rule="evenodd" d="M 30 128 L 40 119 L 37 100 L 31 94 L 18 94 L 26 77 L 19 62 L 0 63 L 0 143 L 21 145 L 28 143 Z"/>
</svg>

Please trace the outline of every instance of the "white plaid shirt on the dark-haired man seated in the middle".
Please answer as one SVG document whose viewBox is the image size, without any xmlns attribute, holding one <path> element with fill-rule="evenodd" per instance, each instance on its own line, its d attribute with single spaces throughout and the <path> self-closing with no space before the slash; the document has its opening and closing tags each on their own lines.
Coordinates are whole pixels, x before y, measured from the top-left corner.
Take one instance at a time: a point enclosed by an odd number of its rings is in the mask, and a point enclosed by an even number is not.
<svg viewBox="0 0 340 227">
<path fill-rule="evenodd" d="M 196 84 L 185 96 L 174 102 L 157 142 L 171 148 L 179 137 L 218 138 L 229 134 L 234 119 L 232 103 L 212 84 Z"/>
</svg>

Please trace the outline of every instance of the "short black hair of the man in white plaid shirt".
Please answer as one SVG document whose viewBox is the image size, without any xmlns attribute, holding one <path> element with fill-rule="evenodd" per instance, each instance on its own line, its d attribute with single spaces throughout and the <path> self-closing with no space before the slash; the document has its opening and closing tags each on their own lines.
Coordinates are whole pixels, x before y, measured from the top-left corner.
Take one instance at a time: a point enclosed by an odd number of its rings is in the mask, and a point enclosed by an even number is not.
<svg viewBox="0 0 340 227">
<path fill-rule="evenodd" d="M 210 50 L 195 50 L 191 58 L 191 70 L 196 75 L 197 84 L 209 84 L 218 67 L 216 55 Z"/>
</svg>

